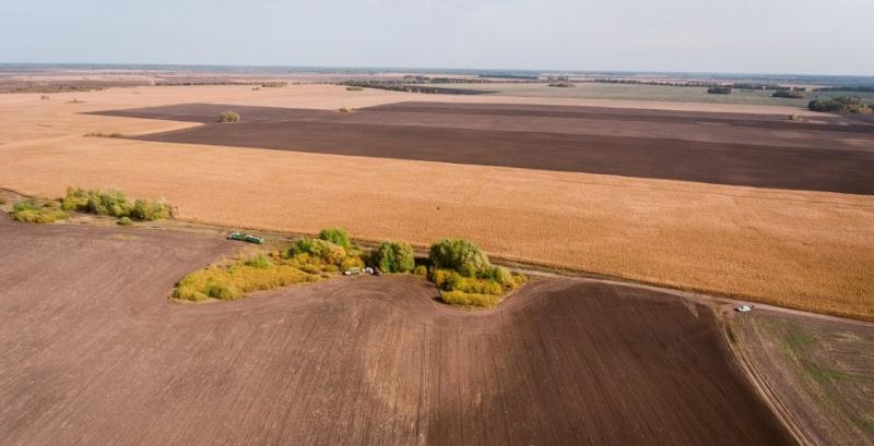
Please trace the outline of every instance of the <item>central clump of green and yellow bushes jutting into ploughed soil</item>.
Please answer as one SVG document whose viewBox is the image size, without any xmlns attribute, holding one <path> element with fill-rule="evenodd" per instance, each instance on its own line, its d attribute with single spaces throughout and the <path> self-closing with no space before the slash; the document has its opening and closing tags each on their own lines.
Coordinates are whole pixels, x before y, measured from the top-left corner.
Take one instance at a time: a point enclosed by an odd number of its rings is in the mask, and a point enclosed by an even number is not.
<svg viewBox="0 0 874 446">
<path fill-rule="evenodd" d="M 405 242 L 383 241 L 367 251 L 350 241 L 342 228 L 326 228 L 318 238 L 303 238 L 282 250 L 240 250 L 182 277 L 170 299 L 182 302 L 229 301 L 255 291 L 316 282 L 368 265 L 380 273 L 414 274 L 439 290 L 444 303 L 488 309 L 527 281 L 522 274 L 492 265 L 473 242 L 444 239 L 425 260 Z"/>
</svg>

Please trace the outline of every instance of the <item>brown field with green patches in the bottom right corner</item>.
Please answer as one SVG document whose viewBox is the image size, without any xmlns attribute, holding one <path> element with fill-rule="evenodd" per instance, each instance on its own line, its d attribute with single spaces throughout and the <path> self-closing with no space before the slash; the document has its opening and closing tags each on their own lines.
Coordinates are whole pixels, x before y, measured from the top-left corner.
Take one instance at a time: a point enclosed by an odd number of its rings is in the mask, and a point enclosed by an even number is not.
<svg viewBox="0 0 874 446">
<path fill-rule="evenodd" d="M 874 445 L 874 326 L 756 310 L 731 330 L 811 444 Z"/>
</svg>

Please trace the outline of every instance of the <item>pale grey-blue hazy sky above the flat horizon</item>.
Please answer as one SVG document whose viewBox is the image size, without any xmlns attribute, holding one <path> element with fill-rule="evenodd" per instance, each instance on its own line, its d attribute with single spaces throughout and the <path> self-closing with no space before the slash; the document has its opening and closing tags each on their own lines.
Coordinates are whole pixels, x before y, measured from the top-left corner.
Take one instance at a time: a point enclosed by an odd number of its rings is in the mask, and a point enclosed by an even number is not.
<svg viewBox="0 0 874 446">
<path fill-rule="evenodd" d="M 874 0 L 2 0 L 0 62 L 874 75 Z"/>
</svg>

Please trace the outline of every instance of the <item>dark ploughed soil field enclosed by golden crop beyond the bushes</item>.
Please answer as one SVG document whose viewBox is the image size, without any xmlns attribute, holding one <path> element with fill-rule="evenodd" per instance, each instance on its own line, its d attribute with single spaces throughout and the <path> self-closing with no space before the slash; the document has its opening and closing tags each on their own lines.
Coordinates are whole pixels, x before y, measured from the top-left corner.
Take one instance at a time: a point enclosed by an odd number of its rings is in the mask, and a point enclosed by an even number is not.
<svg viewBox="0 0 874 446">
<path fill-rule="evenodd" d="M 243 122 L 220 124 L 233 109 Z M 874 194 L 874 124 L 824 116 L 402 103 L 356 110 L 192 104 L 102 112 L 202 122 L 144 141 Z"/>
</svg>

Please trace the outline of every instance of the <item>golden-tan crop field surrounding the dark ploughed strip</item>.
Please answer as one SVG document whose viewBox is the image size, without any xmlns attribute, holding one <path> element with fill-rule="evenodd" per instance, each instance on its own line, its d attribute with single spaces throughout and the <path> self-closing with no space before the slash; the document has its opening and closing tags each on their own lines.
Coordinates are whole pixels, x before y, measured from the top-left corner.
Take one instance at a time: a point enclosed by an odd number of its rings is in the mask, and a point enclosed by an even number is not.
<svg viewBox="0 0 874 446">
<path fill-rule="evenodd" d="M 430 100 L 414 97 L 423 98 Z M 44 196 L 60 196 L 68 185 L 118 188 L 166 197 L 179 218 L 226 226 L 343 226 L 362 239 L 416 244 L 460 236 L 508 260 L 874 320 L 874 196 L 83 136 L 192 125 L 82 114 L 104 109 L 204 101 L 331 109 L 399 100 L 411 97 L 307 85 L 267 93 L 114 88 L 48 100 L 2 95 L 0 186 Z M 689 107 L 705 106 L 787 111 Z"/>
</svg>

